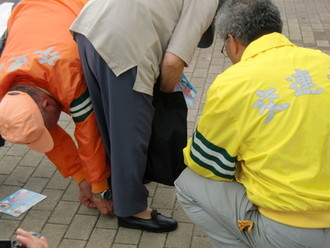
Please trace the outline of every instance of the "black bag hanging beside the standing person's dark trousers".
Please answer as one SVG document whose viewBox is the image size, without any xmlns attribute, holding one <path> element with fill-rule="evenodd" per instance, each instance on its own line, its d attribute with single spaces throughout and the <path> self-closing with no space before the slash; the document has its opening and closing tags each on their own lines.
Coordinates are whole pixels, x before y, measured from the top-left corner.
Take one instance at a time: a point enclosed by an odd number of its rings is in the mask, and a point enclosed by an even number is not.
<svg viewBox="0 0 330 248">
<path fill-rule="evenodd" d="M 173 186 L 186 167 L 183 148 L 187 144 L 187 105 L 181 91 L 164 93 L 154 86 L 155 114 L 148 150 L 145 179 Z"/>
</svg>

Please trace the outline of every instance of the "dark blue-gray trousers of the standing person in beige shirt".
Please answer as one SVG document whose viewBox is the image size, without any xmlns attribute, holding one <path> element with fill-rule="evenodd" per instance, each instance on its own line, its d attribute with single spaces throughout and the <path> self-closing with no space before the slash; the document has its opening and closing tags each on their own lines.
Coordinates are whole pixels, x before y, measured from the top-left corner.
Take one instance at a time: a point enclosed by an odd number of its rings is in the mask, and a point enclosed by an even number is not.
<svg viewBox="0 0 330 248">
<path fill-rule="evenodd" d="M 114 212 L 131 216 L 147 208 L 142 179 L 154 113 L 152 96 L 133 90 L 136 68 L 116 77 L 86 37 L 76 34 L 75 39 L 110 159 Z"/>
</svg>

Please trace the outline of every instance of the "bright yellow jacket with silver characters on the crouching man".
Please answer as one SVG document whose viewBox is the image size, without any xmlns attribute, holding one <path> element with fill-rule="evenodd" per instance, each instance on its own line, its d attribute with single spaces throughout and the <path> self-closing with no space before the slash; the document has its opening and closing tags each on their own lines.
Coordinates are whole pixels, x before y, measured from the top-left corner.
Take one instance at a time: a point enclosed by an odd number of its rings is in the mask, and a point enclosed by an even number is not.
<svg viewBox="0 0 330 248">
<path fill-rule="evenodd" d="M 330 56 L 262 36 L 211 85 L 185 162 L 270 219 L 330 227 Z"/>
</svg>

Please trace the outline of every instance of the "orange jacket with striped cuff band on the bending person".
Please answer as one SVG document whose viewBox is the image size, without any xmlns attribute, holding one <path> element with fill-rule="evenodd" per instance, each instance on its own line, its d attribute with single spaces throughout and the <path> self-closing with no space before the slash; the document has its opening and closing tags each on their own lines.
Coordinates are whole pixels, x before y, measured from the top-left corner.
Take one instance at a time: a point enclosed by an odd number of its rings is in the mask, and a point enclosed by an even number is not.
<svg viewBox="0 0 330 248">
<path fill-rule="evenodd" d="M 69 27 L 84 0 L 23 0 L 8 20 L 0 58 L 0 98 L 16 84 L 38 86 L 73 117 L 77 146 L 59 125 L 50 130 L 54 149 L 46 153 L 64 177 L 84 178 L 92 191 L 108 188 L 110 166 L 84 81 L 79 53 Z"/>
</svg>

